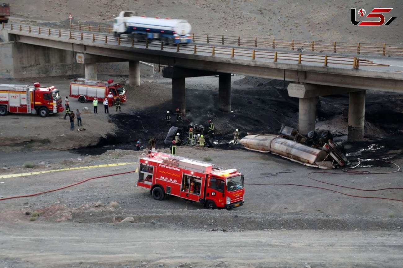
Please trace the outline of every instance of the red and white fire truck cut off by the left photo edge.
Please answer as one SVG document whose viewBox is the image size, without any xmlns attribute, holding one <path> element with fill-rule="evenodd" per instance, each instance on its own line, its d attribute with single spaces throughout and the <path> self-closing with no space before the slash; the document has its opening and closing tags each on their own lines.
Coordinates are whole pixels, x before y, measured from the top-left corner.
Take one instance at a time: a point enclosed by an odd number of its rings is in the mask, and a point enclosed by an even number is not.
<svg viewBox="0 0 403 268">
<path fill-rule="evenodd" d="M 29 85 L 0 84 L 0 115 L 10 113 L 36 113 L 47 117 L 64 111 L 59 90 L 41 87 L 38 82 Z"/>
</svg>

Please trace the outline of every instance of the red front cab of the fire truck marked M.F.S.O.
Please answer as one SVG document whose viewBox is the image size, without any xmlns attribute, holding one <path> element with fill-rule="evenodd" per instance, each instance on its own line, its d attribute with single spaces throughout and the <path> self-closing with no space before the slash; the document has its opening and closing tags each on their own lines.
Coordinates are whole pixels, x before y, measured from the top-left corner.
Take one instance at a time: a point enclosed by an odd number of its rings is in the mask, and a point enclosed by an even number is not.
<svg viewBox="0 0 403 268">
<path fill-rule="evenodd" d="M 214 171 L 208 176 L 206 200 L 208 209 L 236 208 L 243 205 L 243 175 L 237 169 Z"/>
</svg>

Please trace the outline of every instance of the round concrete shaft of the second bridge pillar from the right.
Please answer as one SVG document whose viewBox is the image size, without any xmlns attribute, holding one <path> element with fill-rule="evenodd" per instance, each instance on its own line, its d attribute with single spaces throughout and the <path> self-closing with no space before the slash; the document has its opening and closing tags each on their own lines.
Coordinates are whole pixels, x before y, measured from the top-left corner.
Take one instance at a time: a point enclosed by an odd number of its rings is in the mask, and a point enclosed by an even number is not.
<svg viewBox="0 0 403 268">
<path fill-rule="evenodd" d="M 298 132 L 308 134 L 315 130 L 316 120 L 316 97 L 299 99 Z"/>
</svg>

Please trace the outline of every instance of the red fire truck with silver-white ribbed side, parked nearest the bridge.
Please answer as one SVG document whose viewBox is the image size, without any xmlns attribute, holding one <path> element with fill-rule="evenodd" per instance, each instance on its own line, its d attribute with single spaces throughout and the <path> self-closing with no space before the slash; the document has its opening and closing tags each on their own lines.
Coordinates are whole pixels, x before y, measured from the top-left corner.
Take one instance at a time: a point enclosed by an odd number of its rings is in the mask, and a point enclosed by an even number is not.
<svg viewBox="0 0 403 268">
<path fill-rule="evenodd" d="M 103 100 L 109 92 L 112 92 L 113 99 L 119 96 L 121 102 L 127 101 L 125 88 L 121 84 L 112 83 L 113 79 L 102 81 L 77 78 L 70 83 L 70 97 L 78 98 L 81 103 L 85 103 L 93 101 L 94 98 Z"/>
</svg>

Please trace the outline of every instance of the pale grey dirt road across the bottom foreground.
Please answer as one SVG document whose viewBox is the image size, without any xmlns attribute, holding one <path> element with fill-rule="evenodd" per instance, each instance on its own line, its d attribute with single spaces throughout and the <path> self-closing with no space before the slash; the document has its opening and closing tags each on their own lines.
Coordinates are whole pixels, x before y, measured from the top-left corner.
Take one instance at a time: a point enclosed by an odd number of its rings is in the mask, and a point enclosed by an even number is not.
<svg viewBox="0 0 403 268">
<path fill-rule="evenodd" d="M 15 230 L 20 230 L 15 232 Z M 2 223 L 3 267 L 401 267 L 385 231 L 222 232 L 150 223 Z"/>
</svg>

